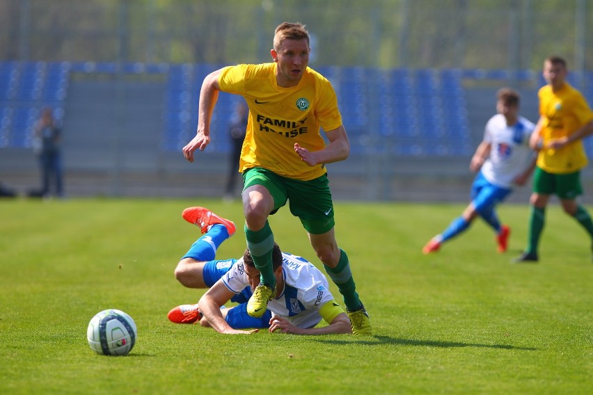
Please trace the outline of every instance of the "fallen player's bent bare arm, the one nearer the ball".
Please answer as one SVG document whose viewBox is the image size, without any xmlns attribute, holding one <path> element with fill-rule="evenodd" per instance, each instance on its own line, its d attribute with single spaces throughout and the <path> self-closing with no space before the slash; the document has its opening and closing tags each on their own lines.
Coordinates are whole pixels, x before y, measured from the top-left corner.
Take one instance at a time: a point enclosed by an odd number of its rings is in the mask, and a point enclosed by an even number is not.
<svg viewBox="0 0 593 395">
<path fill-rule="evenodd" d="M 250 334 L 258 332 L 258 329 L 236 330 L 231 328 L 225 321 L 221 313 L 221 306 L 227 303 L 234 295 L 235 293 L 230 291 L 222 280 L 218 280 L 198 301 L 200 312 L 202 312 L 203 317 L 207 319 L 208 324 L 216 332 L 224 334 Z"/>
</svg>

